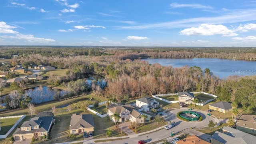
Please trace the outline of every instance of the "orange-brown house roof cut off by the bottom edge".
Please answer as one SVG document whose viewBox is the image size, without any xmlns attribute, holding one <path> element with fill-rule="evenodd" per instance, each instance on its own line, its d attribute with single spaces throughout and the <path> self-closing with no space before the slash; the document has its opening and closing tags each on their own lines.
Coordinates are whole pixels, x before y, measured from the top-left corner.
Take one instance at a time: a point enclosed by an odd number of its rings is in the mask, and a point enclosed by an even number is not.
<svg viewBox="0 0 256 144">
<path fill-rule="evenodd" d="M 175 142 L 175 144 L 210 144 L 210 142 L 202 140 L 201 138 L 198 138 L 196 135 L 192 135 Z"/>
</svg>

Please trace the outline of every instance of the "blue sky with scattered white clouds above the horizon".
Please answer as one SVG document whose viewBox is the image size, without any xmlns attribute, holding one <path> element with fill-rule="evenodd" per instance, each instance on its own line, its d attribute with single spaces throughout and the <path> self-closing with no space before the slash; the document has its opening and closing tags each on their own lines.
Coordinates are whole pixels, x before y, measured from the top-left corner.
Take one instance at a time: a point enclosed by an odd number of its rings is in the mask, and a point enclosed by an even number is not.
<svg viewBox="0 0 256 144">
<path fill-rule="evenodd" d="M 256 0 L 0 0 L 0 45 L 256 46 Z"/>
</svg>

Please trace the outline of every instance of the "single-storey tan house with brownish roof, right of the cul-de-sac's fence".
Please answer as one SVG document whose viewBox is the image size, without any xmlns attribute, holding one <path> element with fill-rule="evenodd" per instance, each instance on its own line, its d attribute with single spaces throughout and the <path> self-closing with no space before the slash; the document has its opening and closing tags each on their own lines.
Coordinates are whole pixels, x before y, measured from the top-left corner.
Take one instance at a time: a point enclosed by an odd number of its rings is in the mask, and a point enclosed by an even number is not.
<svg viewBox="0 0 256 144">
<path fill-rule="evenodd" d="M 214 104 L 210 104 L 209 108 L 212 109 L 212 110 L 217 110 L 217 111 L 222 112 L 224 114 L 226 112 L 232 111 L 232 106 L 228 102 L 217 102 L 217 103 L 214 103 Z"/>
</svg>

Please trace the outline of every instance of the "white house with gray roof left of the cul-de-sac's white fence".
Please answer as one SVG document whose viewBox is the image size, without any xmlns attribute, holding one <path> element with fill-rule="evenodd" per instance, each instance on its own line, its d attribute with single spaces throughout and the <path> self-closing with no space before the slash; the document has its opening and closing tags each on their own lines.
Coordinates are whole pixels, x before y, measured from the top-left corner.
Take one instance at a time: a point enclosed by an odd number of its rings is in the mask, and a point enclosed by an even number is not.
<svg viewBox="0 0 256 144">
<path fill-rule="evenodd" d="M 143 107 L 144 111 L 148 112 L 151 108 L 157 108 L 159 106 L 159 102 L 153 98 L 144 97 L 136 100 L 136 106 L 138 108 Z"/>
</svg>

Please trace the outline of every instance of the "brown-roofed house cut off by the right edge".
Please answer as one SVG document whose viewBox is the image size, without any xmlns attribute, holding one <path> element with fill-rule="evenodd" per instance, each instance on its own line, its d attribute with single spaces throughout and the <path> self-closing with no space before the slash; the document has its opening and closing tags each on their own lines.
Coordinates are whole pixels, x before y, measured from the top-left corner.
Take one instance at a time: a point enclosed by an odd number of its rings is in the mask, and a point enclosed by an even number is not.
<svg viewBox="0 0 256 144">
<path fill-rule="evenodd" d="M 256 115 L 242 114 L 236 119 L 236 129 L 256 134 Z"/>
</svg>

